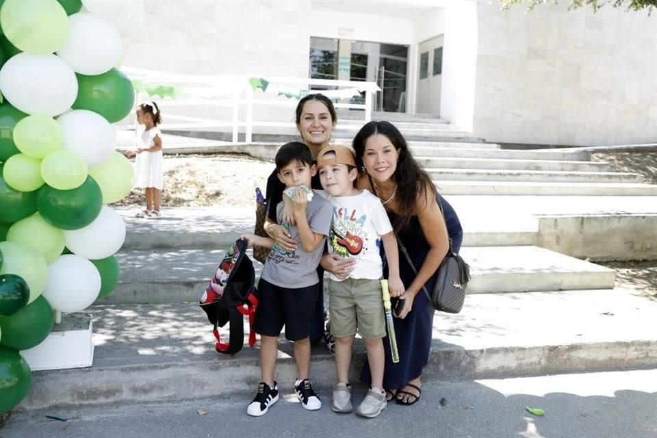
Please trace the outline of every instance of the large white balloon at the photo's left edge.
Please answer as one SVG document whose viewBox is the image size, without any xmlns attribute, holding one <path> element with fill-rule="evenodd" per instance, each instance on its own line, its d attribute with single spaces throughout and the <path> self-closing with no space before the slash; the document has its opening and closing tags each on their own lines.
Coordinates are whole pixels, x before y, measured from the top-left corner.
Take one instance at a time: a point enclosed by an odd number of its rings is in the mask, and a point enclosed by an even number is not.
<svg viewBox="0 0 657 438">
<path fill-rule="evenodd" d="M 77 78 L 55 55 L 18 53 L 0 70 L 0 92 L 27 114 L 57 116 L 77 98 Z"/>
</svg>

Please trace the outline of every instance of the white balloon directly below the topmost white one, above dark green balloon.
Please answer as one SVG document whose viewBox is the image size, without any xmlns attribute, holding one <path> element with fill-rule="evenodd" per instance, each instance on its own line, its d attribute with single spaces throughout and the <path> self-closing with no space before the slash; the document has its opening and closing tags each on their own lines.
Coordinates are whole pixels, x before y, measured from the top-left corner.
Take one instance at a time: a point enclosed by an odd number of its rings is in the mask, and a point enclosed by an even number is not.
<svg viewBox="0 0 657 438">
<path fill-rule="evenodd" d="M 68 38 L 57 51 L 81 75 L 101 75 L 121 59 L 121 36 L 105 20 L 88 12 L 68 17 Z"/>
</svg>

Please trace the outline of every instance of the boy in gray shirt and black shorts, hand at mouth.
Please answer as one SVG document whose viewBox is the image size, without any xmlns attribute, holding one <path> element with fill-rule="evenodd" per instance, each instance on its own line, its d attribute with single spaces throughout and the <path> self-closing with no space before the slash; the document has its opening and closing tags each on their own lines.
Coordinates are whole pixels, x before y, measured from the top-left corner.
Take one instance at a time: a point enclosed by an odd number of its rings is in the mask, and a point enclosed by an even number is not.
<svg viewBox="0 0 657 438">
<path fill-rule="evenodd" d="M 279 388 L 274 381 L 278 339 L 285 325 L 285 338 L 294 342 L 294 361 L 298 377 L 294 391 L 301 406 L 309 411 L 322 407 L 320 398 L 308 380 L 310 372 L 310 325 L 312 309 L 318 296 L 317 266 L 324 253 L 324 242 L 329 235 L 333 207 L 322 196 L 313 196 L 308 188 L 317 171 L 313 157 L 300 142 L 281 146 L 276 153 L 278 177 L 289 190 L 294 203 L 295 226 L 281 219 L 283 202 L 276 205 L 279 224 L 289 230 L 290 237 L 299 242 L 298 248 L 286 251 L 269 237 L 242 235 L 253 244 L 271 248 L 264 264 L 258 290 L 259 305 L 253 329 L 260 335 L 260 372 L 262 382 L 258 393 L 248 405 L 248 415 L 260 416 L 279 400 Z M 287 196 L 287 195 L 284 195 Z"/>
</svg>

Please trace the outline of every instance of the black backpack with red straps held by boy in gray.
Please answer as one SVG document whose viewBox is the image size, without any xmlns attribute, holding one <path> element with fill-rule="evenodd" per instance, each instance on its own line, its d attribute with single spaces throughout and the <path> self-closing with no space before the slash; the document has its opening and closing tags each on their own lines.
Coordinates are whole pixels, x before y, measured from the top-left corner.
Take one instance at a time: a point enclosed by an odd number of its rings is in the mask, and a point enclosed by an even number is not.
<svg viewBox="0 0 657 438">
<path fill-rule="evenodd" d="M 231 245 L 198 303 L 214 326 L 215 350 L 227 355 L 242 350 L 244 316 L 248 316 L 249 322 L 248 345 L 253 347 L 255 344 L 253 317 L 258 296 L 253 263 L 246 256 L 247 244 L 246 240 L 237 240 Z M 218 327 L 227 322 L 230 322 L 230 337 L 226 344 L 219 339 Z"/>
</svg>

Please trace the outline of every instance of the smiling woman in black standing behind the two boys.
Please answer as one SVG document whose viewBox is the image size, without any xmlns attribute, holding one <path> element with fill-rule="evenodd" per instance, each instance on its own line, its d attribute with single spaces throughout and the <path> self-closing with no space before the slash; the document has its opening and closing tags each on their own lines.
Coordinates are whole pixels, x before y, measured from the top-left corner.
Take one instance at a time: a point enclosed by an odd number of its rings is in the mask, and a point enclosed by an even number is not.
<svg viewBox="0 0 657 438">
<path fill-rule="evenodd" d="M 309 147 L 313 159 L 316 159 L 318 152 L 325 146 L 329 146 L 333 129 L 337 123 L 337 114 L 333 102 L 324 94 L 308 94 L 300 99 L 298 105 L 296 105 L 295 115 L 296 129 L 301 135 L 301 140 Z M 319 175 L 313 177 L 311 188 L 322 189 Z M 271 208 L 268 208 L 264 229 L 281 248 L 294 250 L 298 243 L 289 237 L 289 232 L 285 227 L 276 223 L 276 205 L 283 200 L 284 189 L 285 185 L 276 176 L 276 170 L 274 169 L 267 180 L 266 198 L 267 205 Z M 283 219 L 290 224 L 294 224 L 292 204 L 289 207 L 286 205 L 286 209 L 283 211 Z M 321 267 L 318 267 L 318 276 L 320 277 L 320 290 L 311 326 L 310 342 L 312 345 L 320 342 L 322 335 L 324 335 L 324 283 L 322 281 L 324 270 Z M 329 339 L 325 340 L 327 343 L 329 342 Z"/>
</svg>

